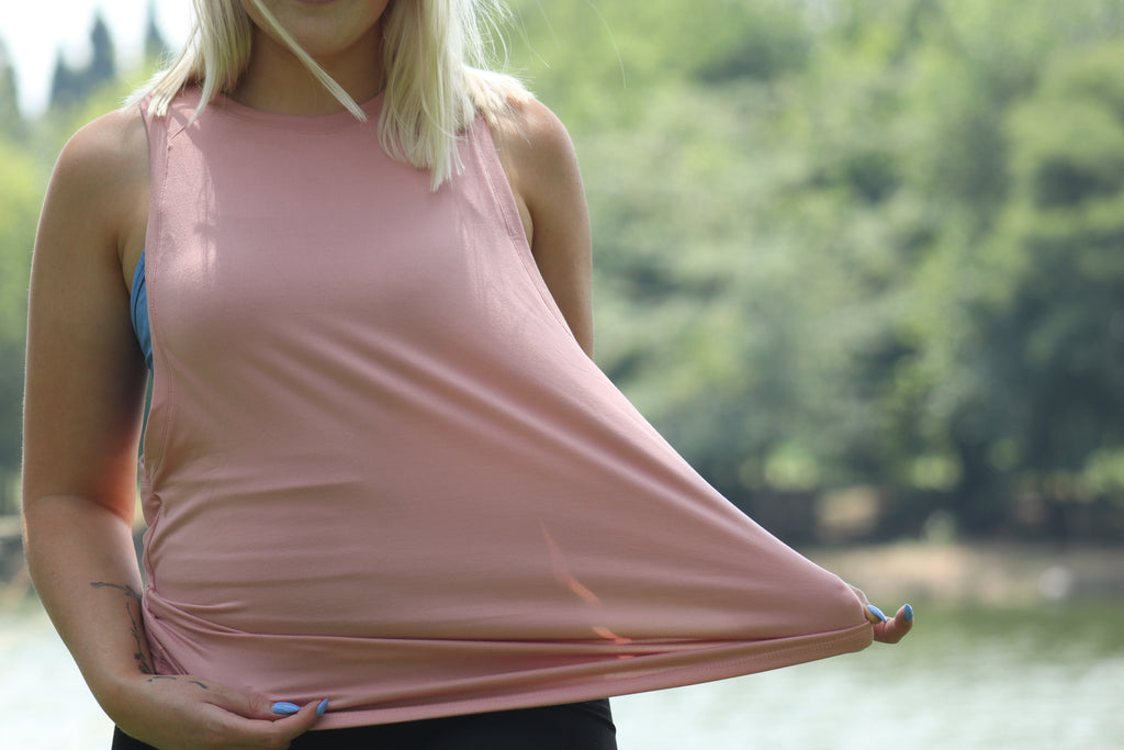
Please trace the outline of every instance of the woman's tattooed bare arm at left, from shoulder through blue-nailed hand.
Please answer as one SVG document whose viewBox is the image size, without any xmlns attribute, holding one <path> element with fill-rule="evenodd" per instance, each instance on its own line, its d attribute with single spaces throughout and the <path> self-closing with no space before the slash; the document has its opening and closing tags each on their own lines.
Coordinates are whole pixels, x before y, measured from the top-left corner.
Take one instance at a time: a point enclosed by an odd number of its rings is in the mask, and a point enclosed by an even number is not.
<svg viewBox="0 0 1124 750">
<path fill-rule="evenodd" d="M 285 747 L 315 706 L 273 721 L 262 698 L 153 674 L 132 540 L 145 371 L 123 262 L 144 242 L 147 193 L 135 111 L 76 134 L 47 190 L 28 313 L 28 566 L 91 692 L 126 732 L 161 748 L 211 747 L 235 732 L 254 740 L 237 747 Z"/>
</svg>

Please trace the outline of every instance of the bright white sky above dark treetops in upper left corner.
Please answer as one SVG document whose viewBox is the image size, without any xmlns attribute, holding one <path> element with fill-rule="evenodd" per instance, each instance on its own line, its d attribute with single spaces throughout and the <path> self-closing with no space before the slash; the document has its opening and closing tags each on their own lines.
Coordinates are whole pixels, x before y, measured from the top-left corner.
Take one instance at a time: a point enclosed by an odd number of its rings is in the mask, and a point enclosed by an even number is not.
<svg viewBox="0 0 1124 750">
<path fill-rule="evenodd" d="M 144 51 L 149 1 L 164 39 L 178 48 L 188 35 L 189 0 L 3 0 L 0 40 L 16 65 L 24 115 L 36 116 L 46 108 L 58 49 L 73 65 L 90 58 L 90 28 L 98 9 L 114 37 L 117 70 L 127 74 Z"/>
</svg>

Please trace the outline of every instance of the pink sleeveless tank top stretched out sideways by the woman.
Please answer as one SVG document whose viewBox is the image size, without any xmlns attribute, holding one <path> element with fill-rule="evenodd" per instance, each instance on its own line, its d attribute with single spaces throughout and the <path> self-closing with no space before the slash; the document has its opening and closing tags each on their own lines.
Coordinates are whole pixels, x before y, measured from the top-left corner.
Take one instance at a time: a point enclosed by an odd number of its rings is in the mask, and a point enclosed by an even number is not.
<svg viewBox="0 0 1124 750">
<path fill-rule="evenodd" d="M 871 641 L 581 351 L 488 127 L 429 175 L 370 123 L 198 92 L 149 119 L 145 625 L 157 669 L 319 728 L 566 703 Z"/>
</svg>

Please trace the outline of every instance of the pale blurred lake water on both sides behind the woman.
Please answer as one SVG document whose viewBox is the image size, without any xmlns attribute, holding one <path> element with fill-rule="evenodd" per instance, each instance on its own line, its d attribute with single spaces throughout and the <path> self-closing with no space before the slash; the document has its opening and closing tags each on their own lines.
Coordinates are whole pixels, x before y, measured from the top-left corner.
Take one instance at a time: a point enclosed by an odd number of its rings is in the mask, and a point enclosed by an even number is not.
<svg viewBox="0 0 1124 750">
<path fill-rule="evenodd" d="M 898 647 L 616 698 L 614 712 L 620 750 L 1124 748 L 1124 603 L 918 605 Z M 0 614 L 0 746 L 101 750 L 110 730 L 46 616 Z"/>
</svg>

